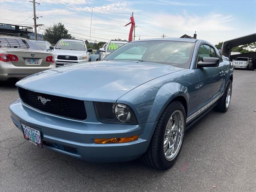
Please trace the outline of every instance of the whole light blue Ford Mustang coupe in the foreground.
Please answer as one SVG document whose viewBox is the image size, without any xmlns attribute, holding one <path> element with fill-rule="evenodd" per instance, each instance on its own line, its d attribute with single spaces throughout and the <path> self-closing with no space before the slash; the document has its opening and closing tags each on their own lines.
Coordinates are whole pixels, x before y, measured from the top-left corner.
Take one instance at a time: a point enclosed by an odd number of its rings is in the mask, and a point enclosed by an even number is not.
<svg viewBox="0 0 256 192">
<path fill-rule="evenodd" d="M 141 157 L 164 170 L 187 128 L 228 110 L 232 80 L 232 63 L 204 40 L 140 40 L 20 80 L 11 118 L 40 147 L 94 162 Z"/>
</svg>

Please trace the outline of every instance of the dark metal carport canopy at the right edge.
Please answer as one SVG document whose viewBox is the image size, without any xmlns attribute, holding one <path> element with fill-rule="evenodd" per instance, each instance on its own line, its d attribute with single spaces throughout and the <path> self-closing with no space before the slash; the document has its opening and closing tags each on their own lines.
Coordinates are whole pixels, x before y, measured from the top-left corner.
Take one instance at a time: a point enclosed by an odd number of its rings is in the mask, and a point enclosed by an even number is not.
<svg viewBox="0 0 256 192">
<path fill-rule="evenodd" d="M 226 57 L 230 57 L 231 50 L 233 47 L 245 45 L 253 42 L 256 42 L 256 33 L 239 37 L 236 39 L 224 41 L 222 44 L 222 55 Z"/>
</svg>

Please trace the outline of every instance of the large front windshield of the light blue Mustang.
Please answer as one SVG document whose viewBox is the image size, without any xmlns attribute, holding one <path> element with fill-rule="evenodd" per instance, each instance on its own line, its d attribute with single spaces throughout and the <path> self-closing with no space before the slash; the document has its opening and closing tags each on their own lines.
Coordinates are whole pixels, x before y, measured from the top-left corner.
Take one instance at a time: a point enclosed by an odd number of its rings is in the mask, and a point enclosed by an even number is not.
<svg viewBox="0 0 256 192">
<path fill-rule="evenodd" d="M 112 52 L 104 60 L 132 60 L 189 68 L 194 43 L 180 41 L 130 42 Z"/>
</svg>

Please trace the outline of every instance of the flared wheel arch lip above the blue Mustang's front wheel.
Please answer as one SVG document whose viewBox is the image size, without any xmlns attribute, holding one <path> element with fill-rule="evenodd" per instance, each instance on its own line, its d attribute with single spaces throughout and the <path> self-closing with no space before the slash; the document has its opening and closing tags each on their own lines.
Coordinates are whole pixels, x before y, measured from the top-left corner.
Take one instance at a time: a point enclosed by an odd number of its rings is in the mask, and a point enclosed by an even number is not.
<svg viewBox="0 0 256 192">
<path fill-rule="evenodd" d="M 172 100 L 174 100 L 178 96 L 182 96 L 186 99 L 187 105 L 184 106 L 184 108 L 185 111 L 187 111 L 187 106 L 190 99 L 188 89 L 185 86 L 176 82 L 170 82 L 162 86 L 156 94 L 147 122 L 158 121 L 164 109 Z M 158 115 L 156 116 L 156 114 Z"/>
</svg>

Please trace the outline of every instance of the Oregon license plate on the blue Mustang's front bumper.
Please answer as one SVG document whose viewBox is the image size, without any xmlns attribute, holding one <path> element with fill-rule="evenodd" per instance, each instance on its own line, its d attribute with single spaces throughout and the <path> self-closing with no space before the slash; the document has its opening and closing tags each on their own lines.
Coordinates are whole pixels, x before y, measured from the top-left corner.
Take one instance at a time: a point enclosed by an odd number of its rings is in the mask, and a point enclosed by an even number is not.
<svg viewBox="0 0 256 192">
<path fill-rule="evenodd" d="M 30 126 L 24 124 L 21 125 L 23 129 L 24 138 L 37 146 L 43 147 L 41 132 L 34 128 L 31 128 Z"/>
</svg>

